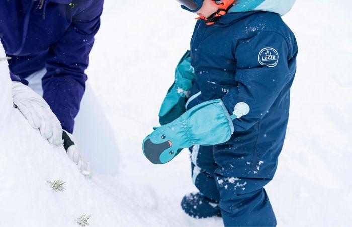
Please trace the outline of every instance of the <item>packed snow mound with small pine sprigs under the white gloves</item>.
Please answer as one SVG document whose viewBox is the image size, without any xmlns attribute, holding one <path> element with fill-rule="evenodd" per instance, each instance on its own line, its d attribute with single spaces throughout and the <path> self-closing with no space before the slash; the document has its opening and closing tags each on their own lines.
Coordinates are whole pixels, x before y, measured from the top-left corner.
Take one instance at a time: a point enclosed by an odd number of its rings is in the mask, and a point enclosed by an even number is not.
<svg viewBox="0 0 352 227">
<path fill-rule="evenodd" d="M 82 215 L 91 215 L 91 226 L 126 226 L 131 220 L 147 225 L 142 217 L 150 216 L 145 213 L 149 201 L 131 203 L 129 190 L 118 184 L 113 190 L 119 194 L 113 197 L 85 179 L 63 146 L 51 146 L 13 108 L 7 61 L 0 64 L 0 110 L 7 113 L 0 115 L 0 226 L 79 226 Z M 55 180 L 65 182 L 63 191 L 52 189 Z"/>
</svg>

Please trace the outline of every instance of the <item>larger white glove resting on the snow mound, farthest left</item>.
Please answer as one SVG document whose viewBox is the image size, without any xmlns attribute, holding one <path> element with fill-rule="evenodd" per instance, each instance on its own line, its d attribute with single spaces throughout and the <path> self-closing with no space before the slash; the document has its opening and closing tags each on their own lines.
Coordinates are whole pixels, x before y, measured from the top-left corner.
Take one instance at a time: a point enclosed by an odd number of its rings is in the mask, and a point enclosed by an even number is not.
<svg viewBox="0 0 352 227">
<path fill-rule="evenodd" d="M 14 104 L 26 117 L 29 124 L 33 128 L 39 128 L 43 138 L 55 146 L 62 144 L 61 124 L 40 95 L 21 82 L 14 81 L 12 83 L 12 97 Z"/>
</svg>

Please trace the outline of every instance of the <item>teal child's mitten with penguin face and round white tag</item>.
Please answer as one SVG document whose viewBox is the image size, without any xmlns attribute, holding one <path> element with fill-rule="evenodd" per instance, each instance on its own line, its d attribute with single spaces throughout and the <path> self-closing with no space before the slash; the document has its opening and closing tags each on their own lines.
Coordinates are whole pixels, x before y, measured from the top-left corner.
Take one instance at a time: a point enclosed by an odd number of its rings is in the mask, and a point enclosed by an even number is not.
<svg viewBox="0 0 352 227">
<path fill-rule="evenodd" d="M 230 116 L 221 99 L 210 100 L 182 114 L 173 122 L 155 129 L 143 141 L 143 152 L 154 164 L 171 161 L 183 148 L 210 146 L 228 141 L 234 132 L 232 120 L 249 112 L 240 102 Z"/>
</svg>

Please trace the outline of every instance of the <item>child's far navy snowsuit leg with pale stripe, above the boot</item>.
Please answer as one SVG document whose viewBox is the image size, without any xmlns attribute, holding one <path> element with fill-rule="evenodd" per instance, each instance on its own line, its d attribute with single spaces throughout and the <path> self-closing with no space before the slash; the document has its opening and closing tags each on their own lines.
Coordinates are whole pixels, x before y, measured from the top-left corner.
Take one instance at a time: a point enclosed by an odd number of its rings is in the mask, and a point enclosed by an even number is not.
<svg viewBox="0 0 352 227">
<path fill-rule="evenodd" d="M 213 146 L 194 145 L 190 152 L 193 184 L 205 197 L 219 202 L 220 195 L 214 178 L 218 165 L 214 161 Z"/>
</svg>

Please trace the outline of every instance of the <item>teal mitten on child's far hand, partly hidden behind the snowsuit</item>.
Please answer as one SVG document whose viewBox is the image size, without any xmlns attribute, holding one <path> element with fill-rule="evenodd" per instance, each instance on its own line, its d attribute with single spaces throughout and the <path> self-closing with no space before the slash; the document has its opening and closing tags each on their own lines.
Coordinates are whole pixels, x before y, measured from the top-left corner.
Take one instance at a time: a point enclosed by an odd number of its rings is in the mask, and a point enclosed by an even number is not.
<svg viewBox="0 0 352 227">
<path fill-rule="evenodd" d="M 161 125 L 168 124 L 185 113 L 188 98 L 195 81 L 194 69 L 191 66 L 190 52 L 181 58 L 175 71 L 175 81 L 169 88 L 159 112 Z"/>
</svg>

